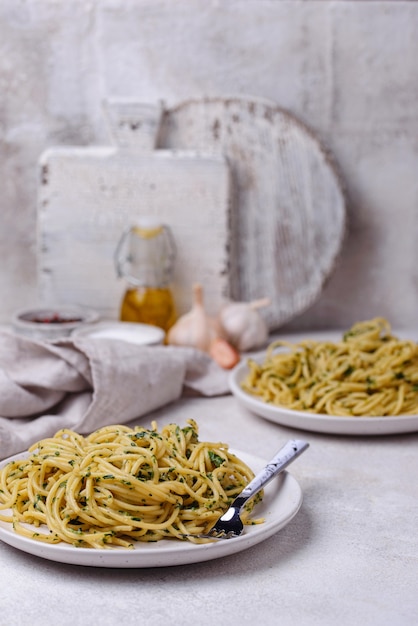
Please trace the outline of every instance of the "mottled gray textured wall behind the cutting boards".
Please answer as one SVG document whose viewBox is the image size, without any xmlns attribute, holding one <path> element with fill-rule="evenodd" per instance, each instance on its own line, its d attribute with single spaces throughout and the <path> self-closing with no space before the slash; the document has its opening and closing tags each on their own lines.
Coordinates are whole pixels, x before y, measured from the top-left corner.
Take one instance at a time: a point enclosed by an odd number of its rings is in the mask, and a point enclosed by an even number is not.
<svg viewBox="0 0 418 626">
<path fill-rule="evenodd" d="M 418 3 L 0 0 L 0 321 L 37 300 L 37 159 L 107 141 L 104 98 L 252 95 L 308 124 L 345 179 L 349 232 L 292 328 L 418 312 Z"/>
</svg>

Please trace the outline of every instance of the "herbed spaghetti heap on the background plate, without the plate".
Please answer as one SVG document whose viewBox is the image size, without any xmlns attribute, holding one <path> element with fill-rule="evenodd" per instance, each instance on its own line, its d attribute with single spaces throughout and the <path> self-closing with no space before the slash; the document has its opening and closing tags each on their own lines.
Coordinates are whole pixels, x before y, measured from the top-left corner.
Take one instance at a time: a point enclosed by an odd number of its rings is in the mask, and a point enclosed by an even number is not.
<svg viewBox="0 0 418 626">
<path fill-rule="evenodd" d="M 418 414 L 418 346 L 381 317 L 358 322 L 341 341 L 275 341 L 250 359 L 242 389 L 264 402 L 334 416 Z"/>
</svg>

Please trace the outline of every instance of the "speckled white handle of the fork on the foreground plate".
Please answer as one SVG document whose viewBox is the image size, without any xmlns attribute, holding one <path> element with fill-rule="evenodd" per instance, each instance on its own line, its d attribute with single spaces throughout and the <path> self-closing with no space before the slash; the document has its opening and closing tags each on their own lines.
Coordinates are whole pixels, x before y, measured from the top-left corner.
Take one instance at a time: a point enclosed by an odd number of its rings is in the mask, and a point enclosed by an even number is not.
<svg viewBox="0 0 418 626">
<path fill-rule="evenodd" d="M 281 448 L 272 460 L 261 470 L 242 490 L 235 499 L 233 505 L 239 508 L 255 496 L 263 487 L 267 485 L 277 474 L 280 474 L 292 461 L 302 454 L 309 447 L 309 443 L 300 439 L 290 439 Z"/>
</svg>

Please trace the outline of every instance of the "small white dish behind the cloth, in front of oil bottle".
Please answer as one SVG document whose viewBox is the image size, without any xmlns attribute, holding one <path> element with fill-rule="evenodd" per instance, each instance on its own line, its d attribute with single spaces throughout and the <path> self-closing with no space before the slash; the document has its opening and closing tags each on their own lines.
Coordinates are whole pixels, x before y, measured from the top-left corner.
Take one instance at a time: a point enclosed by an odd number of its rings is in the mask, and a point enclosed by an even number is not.
<svg viewBox="0 0 418 626">
<path fill-rule="evenodd" d="M 159 345 L 164 341 L 162 328 L 151 324 L 134 322 L 97 322 L 77 329 L 73 337 L 90 337 L 91 339 L 119 339 L 141 346 Z"/>
</svg>

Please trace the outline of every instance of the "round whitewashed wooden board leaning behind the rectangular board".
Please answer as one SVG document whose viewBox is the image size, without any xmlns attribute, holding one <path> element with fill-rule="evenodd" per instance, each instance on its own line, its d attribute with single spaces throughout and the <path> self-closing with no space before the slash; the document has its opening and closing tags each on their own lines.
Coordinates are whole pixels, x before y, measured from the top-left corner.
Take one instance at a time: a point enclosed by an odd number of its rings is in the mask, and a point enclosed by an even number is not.
<svg viewBox="0 0 418 626">
<path fill-rule="evenodd" d="M 270 297 L 263 315 L 271 330 L 313 304 L 346 221 L 341 181 L 314 134 L 269 101 L 202 98 L 165 111 L 157 147 L 228 159 L 234 192 L 228 296 Z"/>
</svg>

